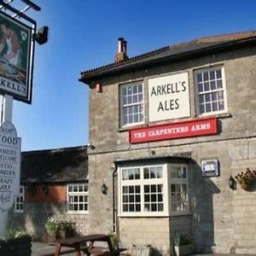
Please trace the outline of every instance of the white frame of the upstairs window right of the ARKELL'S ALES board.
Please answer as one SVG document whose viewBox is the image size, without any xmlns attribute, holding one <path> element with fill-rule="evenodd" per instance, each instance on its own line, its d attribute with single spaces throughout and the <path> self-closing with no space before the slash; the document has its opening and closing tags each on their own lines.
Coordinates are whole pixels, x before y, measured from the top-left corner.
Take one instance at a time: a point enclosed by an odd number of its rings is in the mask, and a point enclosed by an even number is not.
<svg viewBox="0 0 256 256">
<path fill-rule="evenodd" d="M 198 90 L 198 84 L 200 83 L 198 81 L 198 74 L 199 73 L 204 73 L 204 72 L 212 72 L 212 71 L 216 71 L 216 70 L 220 70 L 221 71 L 221 80 L 222 80 L 222 89 L 218 89 L 216 88 L 215 90 L 211 90 L 211 87 L 209 87 L 209 90 L 205 90 L 205 91 L 201 91 L 199 92 Z M 209 78 L 209 84 L 211 84 L 211 82 L 214 84 L 214 82 L 217 83 L 217 81 L 220 79 L 210 79 Z M 221 114 L 221 113 L 227 113 L 228 112 L 228 103 L 227 103 L 227 96 L 226 96 L 226 83 L 225 83 L 225 74 L 224 74 L 224 66 L 214 66 L 214 67 L 207 67 L 207 68 L 201 68 L 201 69 L 197 69 L 194 71 L 194 81 L 195 81 L 195 105 L 196 105 L 196 115 L 197 116 L 209 116 L 209 115 L 214 115 L 214 114 Z M 223 91 L 223 102 L 224 102 L 224 109 L 222 110 L 215 110 L 215 111 L 209 111 L 209 112 L 204 112 L 201 113 L 200 112 L 200 95 L 201 96 L 206 96 L 207 93 L 210 94 L 210 98 L 211 101 L 209 102 L 211 104 L 211 108 L 212 108 L 212 102 L 216 102 L 218 105 L 218 100 L 217 99 L 212 99 L 213 93 L 215 94 L 216 97 L 218 97 L 218 92 Z"/>
</svg>

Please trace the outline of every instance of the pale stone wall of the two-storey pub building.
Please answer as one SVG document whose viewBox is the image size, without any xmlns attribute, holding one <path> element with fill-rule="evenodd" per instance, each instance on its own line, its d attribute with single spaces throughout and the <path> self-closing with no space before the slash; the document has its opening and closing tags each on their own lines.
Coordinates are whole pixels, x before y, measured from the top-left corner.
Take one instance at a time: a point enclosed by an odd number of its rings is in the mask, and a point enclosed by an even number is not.
<svg viewBox="0 0 256 256">
<path fill-rule="evenodd" d="M 90 231 L 108 231 L 113 228 L 113 210 L 116 204 L 116 189 L 113 195 L 114 160 L 148 158 L 154 149 L 156 156 L 189 155 L 189 192 L 191 215 L 185 222 L 171 218 L 119 218 L 119 233 L 122 242 L 132 246 L 154 244 L 165 247 L 171 239 L 172 227 L 191 230 L 197 252 L 256 253 L 254 221 L 256 212 L 255 192 L 229 188 L 230 175 L 247 167 L 256 166 L 256 48 L 237 49 L 229 53 L 207 55 L 201 58 L 170 63 L 160 67 L 135 70 L 117 77 L 102 79 L 102 93 L 90 90 Z M 191 118 L 195 116 L 195 69 L 224 65 L 228 113 L 218 115 L 218 135 L 183 138 L 155 143 L 129 143 L 129 132 L 119 128 L 119 84 L 143 80 L 145 106 L 147 106 L 148 77 L 177 72 L 189 72 Z M 148 112 L 146 107 L 146 123 Z M 172 120 L 172 121 L 182 121 Z M 171 122 L 172 122 L 171 121 Z M 201 160 L 218 159 L 219 177 L 202 177 Z M 102 195 L 102 183 L 108 185 L 108 195 Z M 93 195 L 93 199 L 92 196 Z M 115 199 L 115 202 L 113 202 Z M 91 201 L 92 200 L 92 201 Z M 169 224 L 170 223 L 170 224 Z M 162 228 L 159 228 L 162 225 Z M 166 227 L 166 225 L 168 225 Z M 145 227 L 138 236 L 135 227 Z M 164 230 L 165 244 L 155 242 L 155 226 Z M 143 233 L 143 234 L 142 234 Z M 150 237 L 149 235 L 150 234 Z M 146 236 L 147 239 L 146 239 Z M 162 236 L 162 235 L 161 235 Z M 170 236 L 168 238 L 168 236 Z M 141 239 L 141 240 L 140 240 Z M 140 242 L 138 242 L 140 241 Z"/>
</svg>

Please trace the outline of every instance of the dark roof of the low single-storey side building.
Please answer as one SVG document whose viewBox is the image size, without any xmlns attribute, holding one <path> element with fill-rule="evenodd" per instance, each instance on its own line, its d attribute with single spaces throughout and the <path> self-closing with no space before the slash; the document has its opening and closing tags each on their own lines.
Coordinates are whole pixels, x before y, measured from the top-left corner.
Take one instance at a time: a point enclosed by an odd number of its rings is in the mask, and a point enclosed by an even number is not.
<svg viewBox="0 0 256 256">
<path fill-rule="evenodd" d="M 21 153 L 21 183 L 75 183 L 88 179 L 87 147 Z"/>
</svg>

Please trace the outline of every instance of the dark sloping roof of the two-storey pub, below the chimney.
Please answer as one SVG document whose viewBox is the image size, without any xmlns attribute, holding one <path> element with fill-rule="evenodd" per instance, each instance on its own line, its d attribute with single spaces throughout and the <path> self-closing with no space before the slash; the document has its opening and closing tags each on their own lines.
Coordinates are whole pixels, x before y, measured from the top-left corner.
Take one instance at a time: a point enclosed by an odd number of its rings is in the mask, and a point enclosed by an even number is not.
<svg viewBox="0 0 256 256">
<path fill-rule="evenodd" d="M 79 81 L 91 84 L 97 79 L 113 76 L 120 73 L 131 72 L 138 68 L 146 68 L 156 64 L 178 61 L 193 56 L 214 54 L 236 47 L 247 46 L 256 43 L 256 31 L 236 32 L 195 40 L 182 44 L 174 44 L 150 51 L 143 55 L 136 55 L 119 63 L 110 63 L 106 66 L 96 67 L 81 72 Z"/>
</svg>

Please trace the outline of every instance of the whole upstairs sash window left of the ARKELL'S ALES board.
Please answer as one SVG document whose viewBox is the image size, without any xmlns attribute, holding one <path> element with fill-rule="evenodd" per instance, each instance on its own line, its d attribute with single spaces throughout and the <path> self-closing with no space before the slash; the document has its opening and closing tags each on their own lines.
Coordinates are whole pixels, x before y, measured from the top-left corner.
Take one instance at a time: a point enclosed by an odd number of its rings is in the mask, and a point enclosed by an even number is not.
<svg viewBox="0 0 256 256">
<path fill-rule="evenodd" d="M 144 120 L 143 83 L 120 86 L 120 125 L 142 124 Z"/>
</svg>

